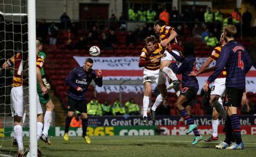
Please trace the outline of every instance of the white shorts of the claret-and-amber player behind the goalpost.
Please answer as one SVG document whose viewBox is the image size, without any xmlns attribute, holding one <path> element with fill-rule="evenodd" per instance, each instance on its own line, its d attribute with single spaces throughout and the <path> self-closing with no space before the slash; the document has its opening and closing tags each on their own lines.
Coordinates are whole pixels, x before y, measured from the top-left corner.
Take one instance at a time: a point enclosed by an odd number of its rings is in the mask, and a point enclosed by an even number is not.
<svg viewBox="0 0 256 157">
<path fill-rule="evenodd" d="M 37 108 L 37 115 L 43 113 L 38 94 L 36 94 L 36 108 Z M 29 111 L 28 87 L 24 87 L 24 88 L 22 86 L 12 87 L 11 89 L 12 116 L 22 117 L 23 110 Z"/>
</svg>

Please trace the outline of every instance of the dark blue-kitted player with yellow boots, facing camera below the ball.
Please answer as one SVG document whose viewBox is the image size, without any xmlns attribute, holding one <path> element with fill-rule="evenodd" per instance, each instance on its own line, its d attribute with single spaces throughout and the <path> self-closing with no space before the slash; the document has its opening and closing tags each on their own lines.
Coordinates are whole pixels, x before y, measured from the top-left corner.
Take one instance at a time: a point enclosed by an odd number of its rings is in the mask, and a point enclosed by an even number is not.
<svg viewBox="0 0 256 157">
<path fill-rule="evenodd" d="M 88 126 L 88 116 L 87 116 L 87 102 L 86 102 L 86 91 L 92 80 L 101 87 L 102 86 L 102 75 L 101 70 L 95 72 L 92 69 L 93 60 L 87 58 L 83 66 L 74 68 L 66 78 L 66 83 L 70 86 L 69 91 L 67 91 L 67 118 L 65 123 L 65 134 L 64 140 L 69 140 L 69 125 L 72 117 L 74 116 L 74 111 L 77 110 L 81 113 L 82 118 L 82 137 L 85 142 L 90 144 L 91 140 L 87 136 L 87 126 Z"/>
</svg>

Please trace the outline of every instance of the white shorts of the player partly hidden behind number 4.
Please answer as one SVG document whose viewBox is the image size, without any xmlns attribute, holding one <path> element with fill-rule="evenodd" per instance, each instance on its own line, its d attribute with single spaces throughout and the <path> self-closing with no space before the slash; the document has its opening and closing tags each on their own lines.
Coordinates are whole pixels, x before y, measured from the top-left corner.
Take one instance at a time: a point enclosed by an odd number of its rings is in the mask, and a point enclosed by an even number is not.
<svg viewBox="0 0 256 157">
<path fill-rule="evenodd" d="M 226 78 L 217 78 L 213 82 L 213 86 L 211 86 L 211 94 L 210 95 L 219 95 L 223 96 L 226 89 Z"/>
</svg>

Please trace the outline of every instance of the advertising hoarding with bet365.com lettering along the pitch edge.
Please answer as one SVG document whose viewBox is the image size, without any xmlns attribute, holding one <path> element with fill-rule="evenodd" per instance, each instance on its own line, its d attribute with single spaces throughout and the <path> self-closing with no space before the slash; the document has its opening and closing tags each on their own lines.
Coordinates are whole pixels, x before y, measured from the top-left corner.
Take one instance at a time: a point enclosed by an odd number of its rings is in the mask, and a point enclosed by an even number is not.
<svg viewBox="0 0 256 157">
<path fill-rule="evenodd" d="M 140 116 L 91 116 L 87 134 L 90 136 L 112 135 L 185 135 L 187 125 L 177 126 L 179 116 L 158 116 L 155 121 L 145 126 Z M 202 135 L 209 135 L 211 129 L 211 116 L 194 116 L 198 124 L 198 131 Z M 241 133 L 256 135 L 256 116 L 240 116 Z M 224 120 L 220 119 L 219 134 L 223 134 Z M 192 135 L 192 133 L 190 133 Z M 23 128 L 23 135 L 28 136 L 28 127 Z M 50 136 L 63 136 L 64 127 L 51 127 Z M 70 127 L 70 136 L 81 136 L 82 127 Z M 0 128 L 0 137 L 13 137 L 12 127 Z"/>
</svg>

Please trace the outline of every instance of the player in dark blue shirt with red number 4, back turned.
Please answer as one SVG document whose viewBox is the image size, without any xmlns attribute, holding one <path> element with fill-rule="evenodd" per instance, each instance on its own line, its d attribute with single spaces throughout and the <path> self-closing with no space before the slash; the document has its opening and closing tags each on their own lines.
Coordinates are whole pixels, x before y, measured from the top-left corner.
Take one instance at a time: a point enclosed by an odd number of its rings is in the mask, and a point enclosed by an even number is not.
<svg viewBox="0 0 256 157">
<path fill-rule="evenodd" d="M 252 67 L 252 60 L 245 47 L 234 40 L 236 26 L 226 25 L 221 36 L 226 39 L 228 44 L 221 49 L 220 57 L 216 60 L 216 68 L 203 86 L 207 91 L 208 85 L 212 83 L 221 71 L 226 67 L 226 92 L 223 105 L 227 107 L 226 139 L 216 148 L 229 150 L 242 150 L 244 143 L 241 137 L 240 119 L 237 116 L 237 108 L 241 105 L 242 95 L 245 92 L 245 74 Z M 218 107 L 216 107 L 218 108 Z M 217 110 L 217 109 L 216 109 Z M 236 143 L 231 144 L 232 134 L 236 138 Z"/>
</svg>

